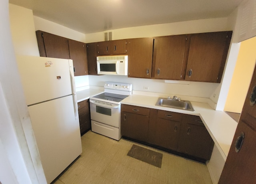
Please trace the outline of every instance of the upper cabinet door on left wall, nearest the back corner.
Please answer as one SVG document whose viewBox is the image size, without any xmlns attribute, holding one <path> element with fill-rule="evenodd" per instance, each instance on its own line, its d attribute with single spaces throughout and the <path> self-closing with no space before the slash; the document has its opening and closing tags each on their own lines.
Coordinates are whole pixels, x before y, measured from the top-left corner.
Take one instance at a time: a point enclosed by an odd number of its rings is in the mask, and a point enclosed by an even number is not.
<svg viewBox="0 0 256 184">
<path fill-rule="evenodd" d="M 70 59 L 73 59 L 74 75 L 88 75 L 86 44 L 68 40 Z"/>
</svg>

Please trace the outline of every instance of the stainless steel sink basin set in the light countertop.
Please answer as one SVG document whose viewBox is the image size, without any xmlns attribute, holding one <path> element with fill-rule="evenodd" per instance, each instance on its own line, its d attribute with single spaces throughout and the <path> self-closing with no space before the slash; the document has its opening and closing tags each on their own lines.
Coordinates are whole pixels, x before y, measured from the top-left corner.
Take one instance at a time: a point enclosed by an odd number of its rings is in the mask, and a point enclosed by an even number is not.
<svg viewBox="0 0 256 184">
<path fill-rule="evenodd" d="M 195 111 L 190 101 L 185 100 L 178 101 L 167 98 L 158 98 L 156 105 L 161 107 L 170 107 L 174 109 L 182 109 L 187 111 Z"/>
</svg>

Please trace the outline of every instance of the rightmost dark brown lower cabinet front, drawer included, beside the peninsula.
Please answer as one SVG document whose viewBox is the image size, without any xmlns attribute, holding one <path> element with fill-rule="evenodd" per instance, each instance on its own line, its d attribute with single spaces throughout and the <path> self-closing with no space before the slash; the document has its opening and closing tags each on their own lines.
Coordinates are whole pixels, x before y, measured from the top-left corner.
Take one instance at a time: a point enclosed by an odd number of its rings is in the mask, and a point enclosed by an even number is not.
<svg viewBox="0 0 256 184">
<path fill-rule="evenodd" d="M 185 121 L 182 121 L 178 151 L 210 160 L 214 142 L 209 135 L 200 117 L 184 115 Z"/>
</svg>

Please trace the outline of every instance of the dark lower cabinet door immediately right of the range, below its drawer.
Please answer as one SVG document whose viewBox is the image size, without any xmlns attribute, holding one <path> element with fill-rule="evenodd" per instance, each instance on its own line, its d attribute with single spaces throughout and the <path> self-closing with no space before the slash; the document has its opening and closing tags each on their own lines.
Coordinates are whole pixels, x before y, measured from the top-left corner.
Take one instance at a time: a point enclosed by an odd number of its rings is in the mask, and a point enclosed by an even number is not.
<svg viewBox="0 0 256 184">
<path fill-rule="evenodd" d="M 149 117 L 121 112 L 121 135 L 147 142 Z"/>
</svg>

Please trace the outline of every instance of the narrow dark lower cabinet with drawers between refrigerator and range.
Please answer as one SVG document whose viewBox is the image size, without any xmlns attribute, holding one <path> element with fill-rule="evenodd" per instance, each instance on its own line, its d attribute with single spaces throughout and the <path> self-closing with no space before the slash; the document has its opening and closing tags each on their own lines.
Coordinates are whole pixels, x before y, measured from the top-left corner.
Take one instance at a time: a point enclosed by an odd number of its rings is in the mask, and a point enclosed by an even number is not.
<svg viewBox="0 0 256 184">
<path fill-rule="evenodd" d="M 89 99 L 78 102 L 78 115 L 81 136 L 91 129 L 90 103 Z"/>
</svg>

